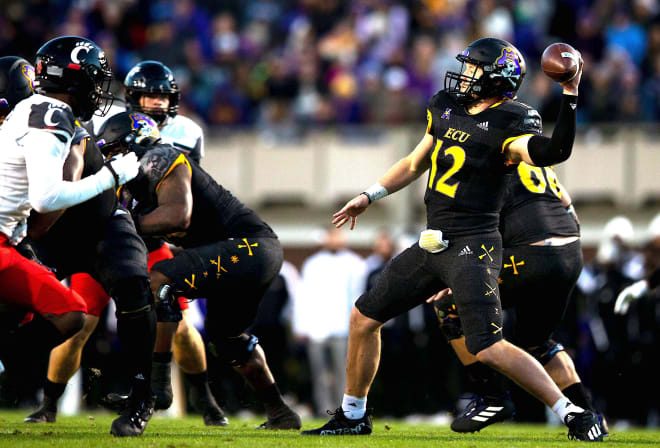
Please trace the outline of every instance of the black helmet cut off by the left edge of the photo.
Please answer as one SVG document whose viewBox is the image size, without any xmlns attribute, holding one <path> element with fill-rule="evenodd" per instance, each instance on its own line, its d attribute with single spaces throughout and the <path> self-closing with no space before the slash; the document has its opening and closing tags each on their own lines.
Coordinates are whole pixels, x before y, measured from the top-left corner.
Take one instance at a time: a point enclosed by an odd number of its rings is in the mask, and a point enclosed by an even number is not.
<svg viewBox="0 0 660 448">
<path fill-rule="evenodd" d="M 0 58 L 0 117 L 32 95 L 33 90 L 34 67 L 28 61 L 17 56 Z"/>
</svg>

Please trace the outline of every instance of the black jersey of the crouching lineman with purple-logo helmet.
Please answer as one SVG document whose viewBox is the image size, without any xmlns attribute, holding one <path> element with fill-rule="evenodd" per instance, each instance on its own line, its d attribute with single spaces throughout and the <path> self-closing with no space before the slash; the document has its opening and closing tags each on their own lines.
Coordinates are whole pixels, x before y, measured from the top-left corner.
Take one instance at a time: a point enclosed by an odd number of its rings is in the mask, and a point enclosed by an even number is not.
<svg viewBox="0 0 660 448">
<path fill-rule="evenodd" d="M 138 214 L 158 207 L 158 188 L 176 166 L 183 164 L 190 170 L 193 196 L 190 226 L 185 232 L 162 235 L 167 241 L 187 248 L 232 237 L 275 236 L 254 211 L 174 146 L 157 144 L 142 156 L 140 164 L 144 175 L 127 185 L 134 212 Z"/>
</svg>

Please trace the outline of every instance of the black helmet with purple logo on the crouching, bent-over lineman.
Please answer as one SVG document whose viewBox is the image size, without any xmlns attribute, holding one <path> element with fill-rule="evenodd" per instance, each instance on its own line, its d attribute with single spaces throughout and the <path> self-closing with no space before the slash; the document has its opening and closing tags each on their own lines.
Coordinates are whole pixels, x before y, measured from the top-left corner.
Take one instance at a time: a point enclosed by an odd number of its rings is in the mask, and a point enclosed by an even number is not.
<svg viewBox="0 0 660 448">
<path fill-rule="evenodd" d="M 96 144 L 104 156 L 133 151 L 138 158 L 160 140 L 158 125 L 140 112 L 120 112 L 105 120 L 96 135 Z"/>
</svg>

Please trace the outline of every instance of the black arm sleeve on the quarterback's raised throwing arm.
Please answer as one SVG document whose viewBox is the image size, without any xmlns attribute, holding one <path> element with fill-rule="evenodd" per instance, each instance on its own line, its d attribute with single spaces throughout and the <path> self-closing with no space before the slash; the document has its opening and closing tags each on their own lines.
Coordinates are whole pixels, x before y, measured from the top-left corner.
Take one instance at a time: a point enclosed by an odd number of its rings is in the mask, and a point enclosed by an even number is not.
<svg viewBox="0 0 660 448">
<path fill-rule="evenodd" d="M 535 135 L 529 139 L 527 149 L 534 165 L 549 166 L 568 159 L 573 150 L 577 121 L 577 96 L 562 95 L 557 124 L 552 138 Z"/>
</svg>

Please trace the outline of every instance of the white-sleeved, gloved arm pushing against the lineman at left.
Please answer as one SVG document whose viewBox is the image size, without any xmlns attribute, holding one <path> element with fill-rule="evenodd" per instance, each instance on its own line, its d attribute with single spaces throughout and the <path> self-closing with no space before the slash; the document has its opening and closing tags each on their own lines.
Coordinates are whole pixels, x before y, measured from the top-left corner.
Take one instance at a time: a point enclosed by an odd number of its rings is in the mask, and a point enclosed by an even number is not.
<svg viewBox="0 0 660 448">
<path fill-rule="evenodd" d="M 32 131 L 21 138 L 20 144 L 26 149 L 30 204 L 40 213 L 83 203 L 105 190 L 128 182 L 137 176 L 140 166 L 137 157 L 128 154 L 110 162 L 116 176 L 105 166 L 92 176 L 68 182 L 62 179 L 62 167 L 68 155 L 66 142 L 50 132 Z"/>
</svg>

